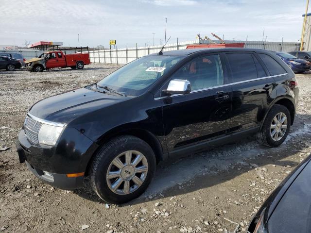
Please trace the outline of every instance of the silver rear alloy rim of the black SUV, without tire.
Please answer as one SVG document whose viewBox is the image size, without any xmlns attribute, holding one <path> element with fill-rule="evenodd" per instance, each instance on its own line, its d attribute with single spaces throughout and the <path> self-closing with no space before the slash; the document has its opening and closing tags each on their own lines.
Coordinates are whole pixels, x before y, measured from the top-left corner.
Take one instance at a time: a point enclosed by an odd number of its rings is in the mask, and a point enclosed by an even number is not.
<svg viewBox="0 0 311 233">
<path fill-rule="evenodd" d="M 287 129 L 287 117 L 284 113 L 278 113 L 273 118 L 270 126 L 270 135 L 274 141 L 279 141 L 283 138 Z"/>
</svg>

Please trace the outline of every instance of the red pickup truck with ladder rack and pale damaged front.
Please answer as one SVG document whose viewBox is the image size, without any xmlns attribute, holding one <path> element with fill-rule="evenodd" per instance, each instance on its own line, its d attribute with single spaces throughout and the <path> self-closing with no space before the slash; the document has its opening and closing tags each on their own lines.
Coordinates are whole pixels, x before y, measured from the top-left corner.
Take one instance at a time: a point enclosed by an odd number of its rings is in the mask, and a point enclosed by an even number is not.
<svg viewBox="0 0 311 233">
<path fill-rule="evenodd" d="M 49 51 L 42 53 L 38 58 L 26 60 L 26 69 L 41 72 L 45 69 L 70 67 L 83 69 L 90 64 L 88 53 L 74 53 L 65 55 L 62 51 Z"/>
</svg>

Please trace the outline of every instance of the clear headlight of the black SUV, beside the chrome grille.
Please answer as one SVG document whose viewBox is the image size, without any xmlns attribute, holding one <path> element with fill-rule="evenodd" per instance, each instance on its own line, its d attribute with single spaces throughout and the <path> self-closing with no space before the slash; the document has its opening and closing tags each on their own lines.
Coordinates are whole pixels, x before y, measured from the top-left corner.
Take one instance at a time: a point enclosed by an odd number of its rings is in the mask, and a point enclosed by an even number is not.
<svg viewBox="0 0 311 233">
<path fill-rule="evenodd" d="M 38 133 L 38 142 L 41 144 L 54 146 L 64 127 L 42 124 Z"/>
</svg>

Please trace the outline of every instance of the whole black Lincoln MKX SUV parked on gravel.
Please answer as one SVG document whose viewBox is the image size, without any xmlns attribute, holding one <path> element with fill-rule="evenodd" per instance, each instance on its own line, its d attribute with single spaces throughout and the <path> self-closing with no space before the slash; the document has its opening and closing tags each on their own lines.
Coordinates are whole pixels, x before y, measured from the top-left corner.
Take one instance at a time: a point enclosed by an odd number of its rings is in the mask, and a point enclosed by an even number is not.
<svg viewBox="0 0 311 233">
<path fill-rule="evenodd" d="M 89 176 L 101 199 L 122 203 L 147 188 L 162 160 L 254 133 L 279 146 L 297 99 L 293 71 L 272 52 L 160 52 L 35 103 L 17 151 L 46 183 L 74 189 Z"/>
</svg>

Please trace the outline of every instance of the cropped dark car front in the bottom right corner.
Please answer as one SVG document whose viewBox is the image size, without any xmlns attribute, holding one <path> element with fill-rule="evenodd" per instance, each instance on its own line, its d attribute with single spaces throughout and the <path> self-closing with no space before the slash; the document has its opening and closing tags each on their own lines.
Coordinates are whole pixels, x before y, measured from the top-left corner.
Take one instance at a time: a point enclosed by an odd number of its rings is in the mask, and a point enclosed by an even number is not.
<svg viewBox="0 0 311 233">
<path fill-rule="evenodd" d="M 311 232 L 311 155 L 262 204 L 248 233 Z"/>
</svg>

